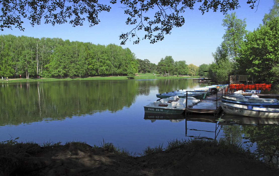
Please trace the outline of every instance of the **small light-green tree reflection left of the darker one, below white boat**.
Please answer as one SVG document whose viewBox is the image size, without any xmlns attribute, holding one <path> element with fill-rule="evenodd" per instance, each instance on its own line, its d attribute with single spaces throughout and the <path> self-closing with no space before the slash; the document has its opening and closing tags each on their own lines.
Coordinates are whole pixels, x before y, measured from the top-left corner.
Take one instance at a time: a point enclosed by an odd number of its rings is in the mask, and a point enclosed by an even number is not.
<svg viewBox="0 0 279 176">
<path fill-rule="evenodd" d="M 241 133 L 242 132 L 240 126 L 230 126 L 230 125 L 223 126 L 224 139 L 232 144 L 242 142 Z"/>
</svg>

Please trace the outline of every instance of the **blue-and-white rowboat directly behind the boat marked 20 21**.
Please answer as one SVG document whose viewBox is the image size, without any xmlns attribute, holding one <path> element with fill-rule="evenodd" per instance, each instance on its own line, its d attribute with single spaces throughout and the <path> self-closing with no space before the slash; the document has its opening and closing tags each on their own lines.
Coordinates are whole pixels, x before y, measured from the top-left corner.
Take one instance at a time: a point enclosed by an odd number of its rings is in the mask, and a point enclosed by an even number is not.
<svg viewBox="0 0 279 176">
<path fill-rule="evenodd" d="M 227 100 L 221 99 L 221 102 L 224 103 L 234 103 L 239 105 L 252 105 L 258 107 L 266 107 L 266 108 L 279 108 L 279 102 L 248 102 L 248 101 L 236 101 L 236 100 Z"/>
</svg>

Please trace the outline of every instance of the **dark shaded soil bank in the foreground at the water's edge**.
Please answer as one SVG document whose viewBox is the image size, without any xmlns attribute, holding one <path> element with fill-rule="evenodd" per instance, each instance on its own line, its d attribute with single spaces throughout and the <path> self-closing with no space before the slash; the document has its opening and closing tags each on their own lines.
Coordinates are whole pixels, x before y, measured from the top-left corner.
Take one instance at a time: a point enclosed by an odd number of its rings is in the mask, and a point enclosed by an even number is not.
<svg viewBox="0 0 279 176">
<path fill-rule="evenodd" d="M 184 147 L 141 157 L 110 153 L 104 148 L 64 146 L 3 149 L 0 175 L 279 175 L 265 163 L 230 152 L 204 147 Z"/>
</svg>

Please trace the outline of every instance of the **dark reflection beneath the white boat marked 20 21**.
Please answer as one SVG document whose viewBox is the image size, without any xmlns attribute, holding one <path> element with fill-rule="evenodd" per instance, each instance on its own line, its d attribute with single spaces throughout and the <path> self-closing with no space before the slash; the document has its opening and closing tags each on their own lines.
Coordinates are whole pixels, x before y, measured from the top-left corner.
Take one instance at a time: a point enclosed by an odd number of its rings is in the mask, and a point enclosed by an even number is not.
<svg viewBox="0 0 279 176">
<path fill-rule="evenodd" d="M 279 119 L 273 118 L 259 118 L 259 117 L 246 117 L 241 115 L 222 114 L 220 116 L 222 121 L 218 125 L 269 125 L 279 124 Z"/>
</svg>

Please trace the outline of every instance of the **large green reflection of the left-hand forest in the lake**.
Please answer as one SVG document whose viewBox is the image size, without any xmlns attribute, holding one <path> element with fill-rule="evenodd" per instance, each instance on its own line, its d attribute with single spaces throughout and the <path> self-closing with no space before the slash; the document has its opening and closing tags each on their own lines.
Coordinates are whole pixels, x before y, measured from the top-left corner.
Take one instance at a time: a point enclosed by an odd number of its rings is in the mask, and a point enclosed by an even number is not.
<svg viewBox="0 0 279 176">
<path fill-rule="evenodd" d="M 135 81 L 54 81 L 3 84 L 0 126 L 116 112 L 134 103 Z"/>
</svg>

